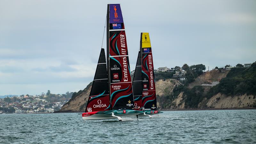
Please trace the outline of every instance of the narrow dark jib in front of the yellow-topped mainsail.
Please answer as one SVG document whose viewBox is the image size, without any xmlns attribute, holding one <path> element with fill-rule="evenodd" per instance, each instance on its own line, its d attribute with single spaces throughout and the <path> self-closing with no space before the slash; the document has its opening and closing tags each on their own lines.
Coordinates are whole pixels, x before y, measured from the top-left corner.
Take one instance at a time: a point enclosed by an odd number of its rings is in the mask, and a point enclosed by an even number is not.
<svg viewBox="0 0 256 144">
<path fill-rule="evenodd" d="M 139 51 L 136 68 L 132 80 L 134 110 L 142 109 L 142 73 L 141 73 L 141 52 Z"/>
</svg>

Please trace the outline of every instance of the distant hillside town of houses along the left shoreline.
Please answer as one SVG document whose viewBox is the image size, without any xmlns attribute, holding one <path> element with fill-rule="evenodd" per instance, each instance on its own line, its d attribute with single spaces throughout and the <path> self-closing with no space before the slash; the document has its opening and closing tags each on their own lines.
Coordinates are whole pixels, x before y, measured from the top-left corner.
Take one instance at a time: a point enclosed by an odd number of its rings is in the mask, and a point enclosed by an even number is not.
<svg viewBox="0 0 256 144">
<path fill-rule="evenodd" d="M 3 113 L 53 113 L 70 100 L 73 92 L 52 94 L 50 90 L 41 95 L 20 95 L 0 99 L 0 114 Z"/>
</svg>

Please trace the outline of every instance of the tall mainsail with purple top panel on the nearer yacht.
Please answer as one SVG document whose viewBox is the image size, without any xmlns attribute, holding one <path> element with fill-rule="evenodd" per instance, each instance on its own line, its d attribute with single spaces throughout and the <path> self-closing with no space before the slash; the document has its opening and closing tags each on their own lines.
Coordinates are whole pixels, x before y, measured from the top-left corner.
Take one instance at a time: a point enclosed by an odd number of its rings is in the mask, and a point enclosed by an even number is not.
<svg viewBox="0 0 256 144">
<path fill-rule="evenodd" d="M 134 108 L 132 80 L 120 4 L 108 4 L 107 65 L 111 109 Z"/>
</svg>

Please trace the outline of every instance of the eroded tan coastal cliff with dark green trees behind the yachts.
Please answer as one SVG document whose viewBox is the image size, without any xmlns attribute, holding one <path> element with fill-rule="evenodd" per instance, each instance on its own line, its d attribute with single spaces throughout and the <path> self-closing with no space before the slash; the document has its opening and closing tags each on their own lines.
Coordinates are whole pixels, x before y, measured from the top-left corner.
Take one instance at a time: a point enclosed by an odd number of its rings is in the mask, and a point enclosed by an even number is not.
<svg viewBox="0 0 256 144">
<path fill-rule="evenodd" d="M 58 112 L 84 112 L 92 83 L 75 92 Z M 156 81 L 157 106 L 165 110 L 205 108 L 255 108 L 256 64 L 205 72 L 189 84 L 175 79 Z"/>
</svg>

